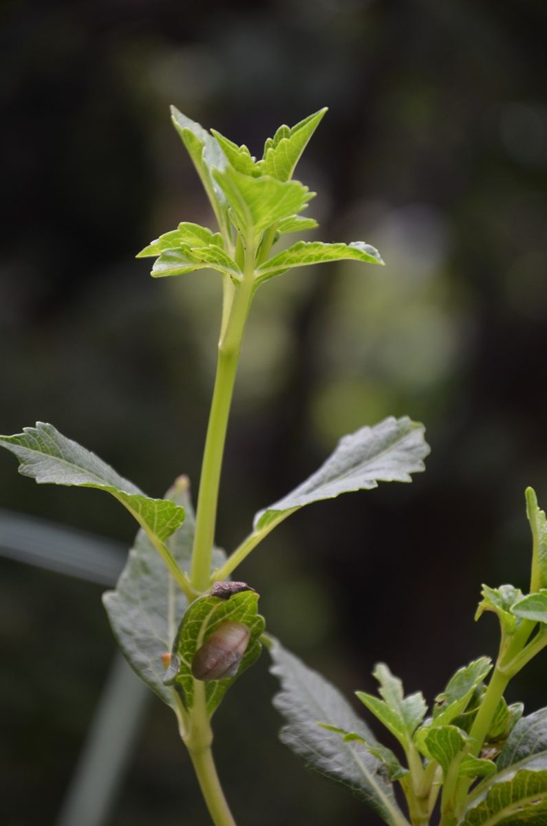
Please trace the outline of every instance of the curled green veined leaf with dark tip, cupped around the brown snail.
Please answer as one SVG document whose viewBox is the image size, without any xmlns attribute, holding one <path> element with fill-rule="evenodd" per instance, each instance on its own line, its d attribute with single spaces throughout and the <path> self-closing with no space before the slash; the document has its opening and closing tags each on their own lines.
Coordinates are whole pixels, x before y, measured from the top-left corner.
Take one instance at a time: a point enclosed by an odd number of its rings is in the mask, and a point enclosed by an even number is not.
<svg viewBox="0 0 547 826">
<path fill-rule="evenodd" d="M 259 595 L 255 591 L 241 591 L 229 599 L 219 596 L 200 596 L 188 607 L 178 628 L 173 644 L 171 665 L 165 682 L 178 689 L 186 710 L 193 708 L 194 678 L 192 661 L 198 648 L 207 641 L 218 626 L 226 620 L 239 622 L 250 629 L 250 639 L 235 676 L 205 682 L 207 713 L 211 717 L 231 684 L 259 657 L 264 633 L 264 617 L 257 612 Z"/>
</svg>

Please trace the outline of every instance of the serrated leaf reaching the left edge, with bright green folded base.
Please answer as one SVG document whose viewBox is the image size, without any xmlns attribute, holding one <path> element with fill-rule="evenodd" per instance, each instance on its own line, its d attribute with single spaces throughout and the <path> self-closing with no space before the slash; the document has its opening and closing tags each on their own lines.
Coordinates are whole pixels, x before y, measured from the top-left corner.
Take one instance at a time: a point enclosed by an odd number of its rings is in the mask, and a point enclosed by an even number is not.
<svg viewBox="0 0 547 826">
<path fill-rule="evenodd" d="M 55 430 L 36 422 L 21 434 L 0 436 L 0 446 L 20 460 L 19 472 L 40 484 L 96 487 L 112 494 L 135 517 L 149 535 L 160 542 L 173 534 L 184 519 L 184 510 L 165 499 L 150 499 L 132 482 L 119 476 L 95 453 Z"/>
</svg>

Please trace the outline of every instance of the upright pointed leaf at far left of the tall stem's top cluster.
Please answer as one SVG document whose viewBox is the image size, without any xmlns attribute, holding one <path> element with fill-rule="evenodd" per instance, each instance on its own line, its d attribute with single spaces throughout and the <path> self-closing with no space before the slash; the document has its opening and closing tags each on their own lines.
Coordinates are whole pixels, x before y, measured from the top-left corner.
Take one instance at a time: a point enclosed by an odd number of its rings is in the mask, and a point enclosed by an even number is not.
<svg viewBox="0 0 547 826">
<path fill-rule="evenodd" d="M 203 188 L 207 192 L 207 197 L 216 215 L 216 220 L 221 227 L 226 228 L 226 198 L 212 177 L 212 169 L 224 169 L 226 166 L 226 155 L 222 152 L 218 142 L 209 135 L 195 121 L 178 112 L 178 109 L 171 107 L 171 120 L 178 135 L 188 150 L 188 154 L 193 161 L 197 174 L 199 175 Z"/>
</svg>

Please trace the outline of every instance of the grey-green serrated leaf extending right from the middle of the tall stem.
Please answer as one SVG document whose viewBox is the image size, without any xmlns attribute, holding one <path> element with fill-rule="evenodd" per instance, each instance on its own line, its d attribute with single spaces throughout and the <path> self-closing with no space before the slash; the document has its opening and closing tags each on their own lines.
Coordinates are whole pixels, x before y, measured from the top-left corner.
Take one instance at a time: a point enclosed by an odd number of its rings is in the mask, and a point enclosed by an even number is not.
<svg viewBox="0 0 547 826">
<path fill-rule="evenodd" d="M 390 416 L 373 427 L 362 427 L 340 439 L 334 453 L 283 499 L 254 517 L 254 530 L 266 529 L 304 505 L 334 499 L 348 491 L 372 490 L 378 482 L 411 482 L 411 473 L 424 469 L 430 452 L 423 425 L 407 416 Z"/>
</svg>

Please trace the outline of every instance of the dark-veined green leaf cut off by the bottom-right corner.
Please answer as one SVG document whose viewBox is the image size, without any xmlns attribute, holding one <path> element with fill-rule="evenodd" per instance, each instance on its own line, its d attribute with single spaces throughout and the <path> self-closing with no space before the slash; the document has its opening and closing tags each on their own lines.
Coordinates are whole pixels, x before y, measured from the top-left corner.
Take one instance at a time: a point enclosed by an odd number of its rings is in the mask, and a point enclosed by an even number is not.
<svg viewBox="0 0 547 826">
<path fill-rule="evenodd" d="M 517 771 L 504 781 L 496 781 L 496 777 L 459 826 L 547 824 L 547 771 Z"/>
</svg>

